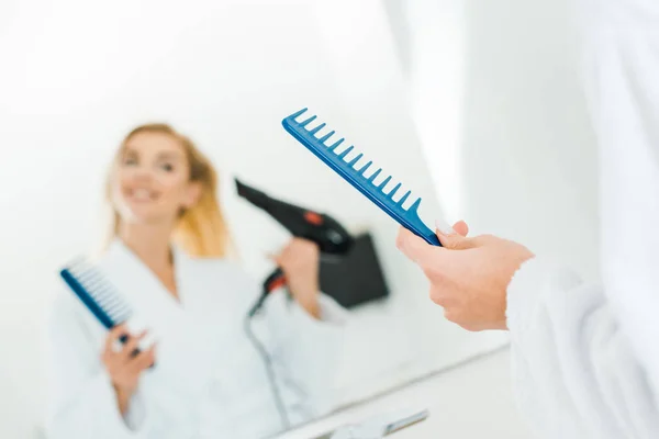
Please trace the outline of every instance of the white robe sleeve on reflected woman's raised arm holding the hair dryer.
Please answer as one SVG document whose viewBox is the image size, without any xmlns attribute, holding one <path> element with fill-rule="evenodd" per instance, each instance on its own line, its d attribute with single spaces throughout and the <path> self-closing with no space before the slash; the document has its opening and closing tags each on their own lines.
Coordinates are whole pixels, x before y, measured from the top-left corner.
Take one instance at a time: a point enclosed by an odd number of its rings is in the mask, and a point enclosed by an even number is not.
<svg viewBox="0 0 659 439">
<path fill-rule="evenodd" d="M 335 372 L 348 313 L 321 293 L 321 318 L 315 319 L 280 289 L 266 302 L 268 346 L 283 385 L 294 424 L 331 410 Z M 299 418 L 295 419 L 295 413 Z"/>
</svg>

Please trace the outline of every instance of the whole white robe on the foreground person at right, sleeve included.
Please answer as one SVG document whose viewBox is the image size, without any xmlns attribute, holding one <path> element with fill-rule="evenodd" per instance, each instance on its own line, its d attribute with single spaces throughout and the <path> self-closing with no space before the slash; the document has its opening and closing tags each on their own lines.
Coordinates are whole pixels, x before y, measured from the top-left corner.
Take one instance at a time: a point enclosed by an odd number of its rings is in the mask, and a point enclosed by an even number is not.
<svg viewBox="0 0 659 439">
<path fill-rule="evenodd" d="M 602 285 L 541 257 L 509 288 L 520 409 L 543 438 L 659 438 L 659 1 L 583 3 Z M 579 245 L 567 243 L 566 245 Z"/>
</svg>

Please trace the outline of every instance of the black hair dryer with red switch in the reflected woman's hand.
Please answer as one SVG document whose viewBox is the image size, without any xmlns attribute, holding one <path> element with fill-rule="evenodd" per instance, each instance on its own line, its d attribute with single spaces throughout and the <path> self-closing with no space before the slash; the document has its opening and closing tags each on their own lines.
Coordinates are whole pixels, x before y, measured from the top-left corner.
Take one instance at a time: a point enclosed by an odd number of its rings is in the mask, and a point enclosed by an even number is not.
<svg viewBox="0 0 659 439">
<path fill-rule="evenodd" d="M 235 179 L 238 195 L 266 211 L 272 218 L 288 229 L 291 235 L 311 240 L 319 246 L 323 255 L 346 255 L 354 239 L 350 234 L 332 216 L 276 200 L 264 192 L 254 189 Z M 268 294 L 286 285 L 283 271 L 278 268 L 264 281 L 264 291 L 252 307 L 249 315 L 254 316 L 263 306 Z"/>
</svg>

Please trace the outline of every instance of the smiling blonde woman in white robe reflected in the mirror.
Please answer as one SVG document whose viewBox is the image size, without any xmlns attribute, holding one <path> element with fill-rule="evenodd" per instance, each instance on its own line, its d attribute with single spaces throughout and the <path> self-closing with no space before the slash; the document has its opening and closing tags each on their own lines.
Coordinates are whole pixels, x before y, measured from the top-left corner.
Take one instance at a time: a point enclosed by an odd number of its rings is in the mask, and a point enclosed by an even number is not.
<svg viewBox="0 0 659 439">
<path fill-rule="evenodd" d="M 277 262 L 294 300 L 272 293 L 254 323 L 278 410 L 243 329 L 260 285 L 225 258 L 215 187 L 209 160 L 168 125 L 122 143 L 108 181 L 112 239 L 98 263 L 145 330 L 107 331 L 63 289 L 49 322 L 49 438 L 258 438 L 327 406 L 344 313 L 319 292 L 317 248 L 293 239 L 283 249 Z"/>
</svg>

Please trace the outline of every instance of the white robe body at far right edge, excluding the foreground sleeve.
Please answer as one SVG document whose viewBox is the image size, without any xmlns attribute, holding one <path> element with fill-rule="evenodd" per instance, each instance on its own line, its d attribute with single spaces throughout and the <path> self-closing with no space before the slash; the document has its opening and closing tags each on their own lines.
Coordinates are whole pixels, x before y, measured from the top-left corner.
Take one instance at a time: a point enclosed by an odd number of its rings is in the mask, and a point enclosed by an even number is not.
<svg viewBox="0 0 659 439">
<path fill-rule="evenodd" d="M 659 1 L 582 1 L 604 293 L 659 386 Z"/>
</svg>

